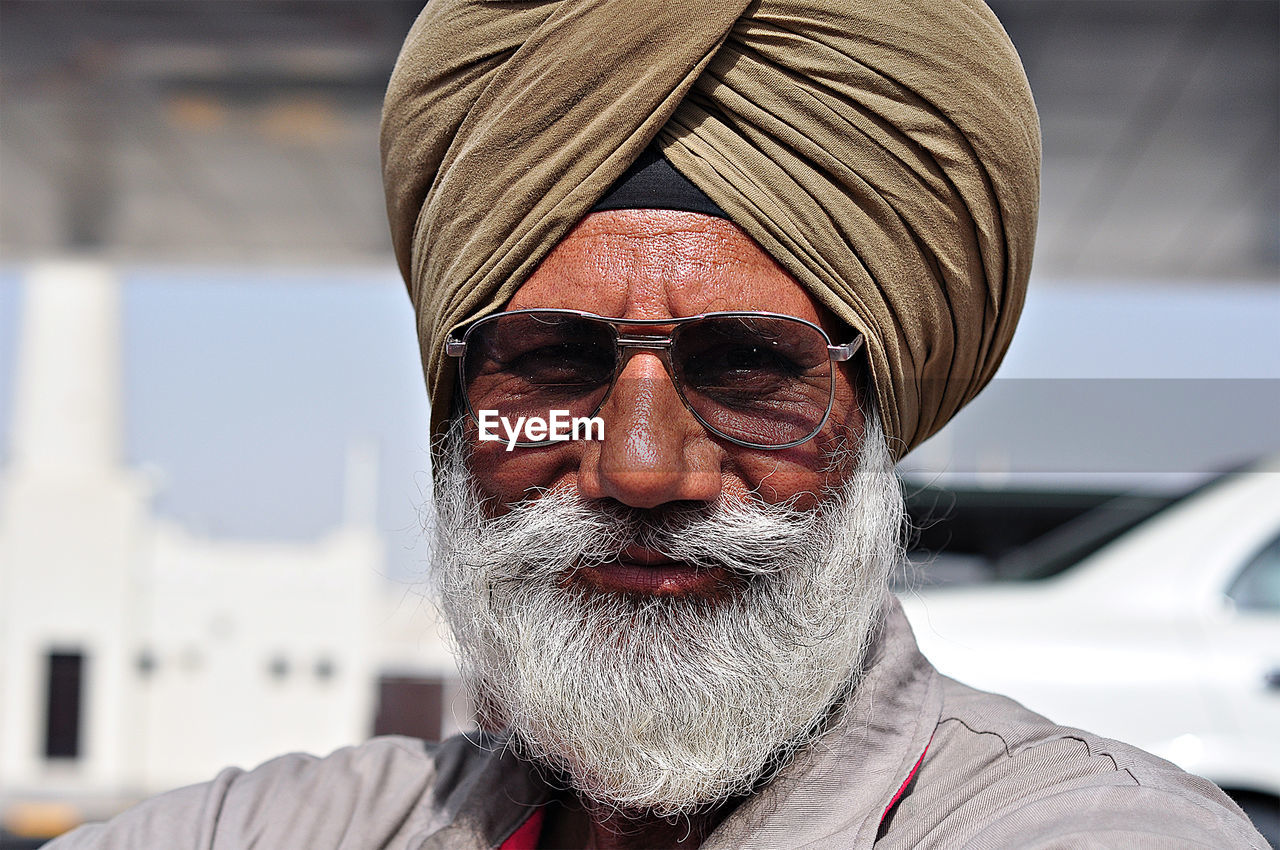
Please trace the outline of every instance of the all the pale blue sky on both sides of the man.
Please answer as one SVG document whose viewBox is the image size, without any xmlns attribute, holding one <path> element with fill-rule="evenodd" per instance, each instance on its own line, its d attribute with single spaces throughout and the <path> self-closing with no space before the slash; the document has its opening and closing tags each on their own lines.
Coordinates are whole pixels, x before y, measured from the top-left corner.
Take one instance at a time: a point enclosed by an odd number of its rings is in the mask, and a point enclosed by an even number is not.
<svg viewBox="0 0 1280 850">
<path fill-rule="evenodd" d="M 0 447 L 19 279 L 0 269 Z M 379 457 L 389 572 L 422 571 L 429 408 L 393 268 L 122 280 L 123 456 L 156 481 L 161 515 L 219 538 L 315 538 L 339 524 L 347 451 L 362 443 Z M 1274 285 L 1038 282 L 997 380 L 905 469 L 1120 485 L 1280 451 L 1276 328 Z"/>
</svg>

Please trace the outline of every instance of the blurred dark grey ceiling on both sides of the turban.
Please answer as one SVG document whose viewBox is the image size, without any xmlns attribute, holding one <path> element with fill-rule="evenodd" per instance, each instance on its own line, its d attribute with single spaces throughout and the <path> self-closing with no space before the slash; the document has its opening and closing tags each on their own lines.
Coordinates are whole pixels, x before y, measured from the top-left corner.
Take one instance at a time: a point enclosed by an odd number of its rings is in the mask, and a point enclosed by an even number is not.
<svg viewBox="0 0 1280 850">
<path fill-rule="evenodd" d="M 1004 0 L 1042 279 L 1280 277 L 1280 4 Z M 417 3 L 0 0 L 0 252 L 389 261 L 383 88 Z"/>
</svg>

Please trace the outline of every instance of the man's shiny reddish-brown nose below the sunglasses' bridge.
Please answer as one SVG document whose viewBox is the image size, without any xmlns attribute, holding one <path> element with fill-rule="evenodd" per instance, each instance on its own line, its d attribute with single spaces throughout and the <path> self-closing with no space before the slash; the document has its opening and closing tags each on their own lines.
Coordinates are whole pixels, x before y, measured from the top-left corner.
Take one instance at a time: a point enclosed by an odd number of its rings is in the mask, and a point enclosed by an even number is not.
<svg viewBox="0 0 1280 850">
<path fill-rule="evenodd" d="M 636 352 L 600 408 L 604 439 L 585 443 L 579 490 L 636 508 L 714 501 L 721 449 L 680 401 L 662 360 Z"/>
</svg>

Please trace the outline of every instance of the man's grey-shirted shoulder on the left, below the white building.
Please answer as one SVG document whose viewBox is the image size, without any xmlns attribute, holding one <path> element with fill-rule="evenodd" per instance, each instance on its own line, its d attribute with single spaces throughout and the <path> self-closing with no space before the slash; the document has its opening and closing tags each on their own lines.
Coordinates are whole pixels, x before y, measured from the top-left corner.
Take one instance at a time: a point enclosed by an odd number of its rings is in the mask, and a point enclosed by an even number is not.
<svg viewBox="0 0 1280 850">
<path fill-rule="evenodd" d="M 429 831 L 454 789 L 486 758 L 483 741 L 376 737 L 326 757 L 293 753 L 252 771 L 143 800 L 106 823 L 81 827 L 50 850 L 230 850 L 246 846 L 398 849 Z"/>
</svg>

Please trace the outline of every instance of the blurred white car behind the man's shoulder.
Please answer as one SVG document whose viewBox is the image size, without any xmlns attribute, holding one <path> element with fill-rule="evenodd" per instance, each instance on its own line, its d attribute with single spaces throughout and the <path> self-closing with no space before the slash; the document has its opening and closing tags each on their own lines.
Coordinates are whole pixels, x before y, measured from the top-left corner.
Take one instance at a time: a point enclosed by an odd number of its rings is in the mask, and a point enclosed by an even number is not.
<svg viewBox="0 0 1280 850">
<path fill-rule="evenodd" d="M 900 594 L 943 673 L 1161 755 L 1280 833 L 1280 462 L 1050 579 Z"/>
</svg>

